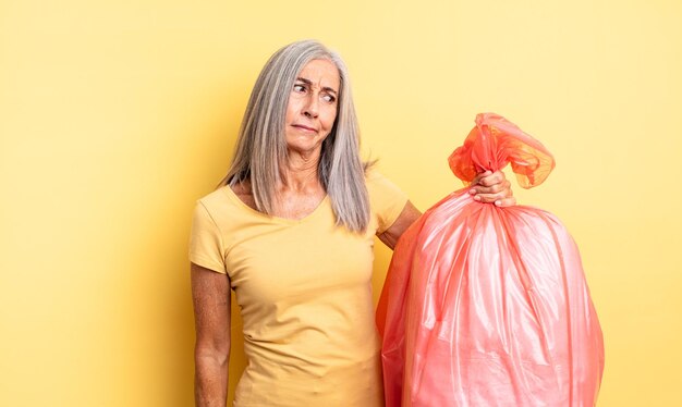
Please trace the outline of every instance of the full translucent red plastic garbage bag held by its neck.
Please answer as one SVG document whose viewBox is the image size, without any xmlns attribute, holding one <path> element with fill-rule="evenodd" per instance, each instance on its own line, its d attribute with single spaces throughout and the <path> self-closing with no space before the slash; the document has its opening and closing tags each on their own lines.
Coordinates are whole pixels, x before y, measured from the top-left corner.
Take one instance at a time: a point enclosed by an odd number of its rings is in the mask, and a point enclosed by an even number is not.
<svg viewBox="0 0 682 407">
<path fill-rule="evenodd" d="M 492 113 L 449 161 L 466 182 L 509 162 L 526 188 L 553 168 Z M 551 213 L 467 190 L 424 213 L 393 254 L 377 310 L 386 405 L 594 406 L 604 342 L 575 243 Z"/>
</svg>

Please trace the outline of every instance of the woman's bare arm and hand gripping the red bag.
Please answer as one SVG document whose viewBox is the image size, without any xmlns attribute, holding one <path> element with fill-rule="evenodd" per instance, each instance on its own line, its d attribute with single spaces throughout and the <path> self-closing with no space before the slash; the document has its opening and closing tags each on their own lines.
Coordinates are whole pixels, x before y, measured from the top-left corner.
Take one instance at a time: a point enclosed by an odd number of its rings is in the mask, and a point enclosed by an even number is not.
<svg viewBox="0 0 682 407">
<path fill-rule="evenodd" d="M 470 187 L 470 194 L 475 195 L 474 199 L 480 202 L 495 203 L 498 207 L 511 207 L 516 203 L 511 190 L 511 183 L 507 181 L 501 171 L 486 171 L 476 175 Z M 400 236 L 421 215 L 422 212 L 411 201 L 407 201 L 395 222 L 378 235 L 379 239 L 392 250 Z"/>
</svg>

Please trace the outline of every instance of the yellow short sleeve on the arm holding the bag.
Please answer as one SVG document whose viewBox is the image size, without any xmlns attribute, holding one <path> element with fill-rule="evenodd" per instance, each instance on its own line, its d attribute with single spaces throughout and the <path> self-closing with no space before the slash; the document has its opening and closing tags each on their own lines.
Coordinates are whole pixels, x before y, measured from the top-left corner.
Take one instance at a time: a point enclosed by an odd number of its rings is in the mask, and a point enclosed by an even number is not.
<svg viewBox="0 0 682 407">
<path fill-rule="evenodd" d="M 407 195 L 377 171 L 370 171 L 366 182 L 372 211 L 377 217 L 377 234 L 381 234 L 391 227 L 405 208 Z"/>
</svg>

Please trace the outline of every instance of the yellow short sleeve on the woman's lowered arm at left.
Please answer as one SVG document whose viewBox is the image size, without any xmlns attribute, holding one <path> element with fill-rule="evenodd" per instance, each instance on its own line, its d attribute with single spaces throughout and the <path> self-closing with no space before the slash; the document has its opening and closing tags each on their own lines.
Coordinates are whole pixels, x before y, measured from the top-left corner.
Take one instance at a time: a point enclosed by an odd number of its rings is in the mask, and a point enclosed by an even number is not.
<svg viewBox="0 0 682 407">
<path fill-rule="evenodd" d="M 194 208 L 190 233 L 190 261 L 227 274 L 223 254 L 220 230 L 199 200 Z"/>
</svg>

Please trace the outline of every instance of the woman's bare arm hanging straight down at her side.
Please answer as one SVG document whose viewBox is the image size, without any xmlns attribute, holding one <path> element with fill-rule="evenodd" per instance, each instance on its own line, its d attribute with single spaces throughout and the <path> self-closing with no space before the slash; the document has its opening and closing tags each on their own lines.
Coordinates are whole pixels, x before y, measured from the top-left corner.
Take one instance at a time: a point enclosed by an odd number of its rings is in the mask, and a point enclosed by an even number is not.
<svg viewBox="0 0 682 407">
<path fill-rule="evenodd" d="M 230 359 L 230 280 L 192 263 L 192 299 L 196 330 L 194 399 L 197 407 L 224 407 Z"/>
</svg>

